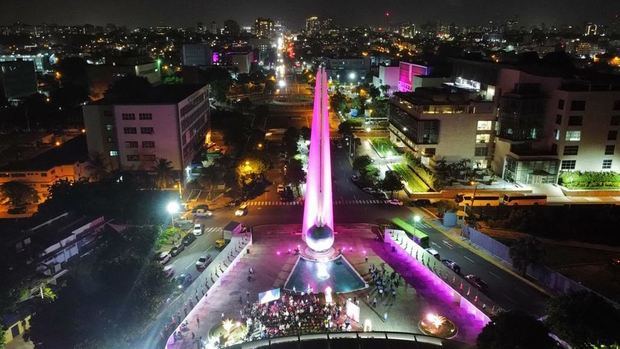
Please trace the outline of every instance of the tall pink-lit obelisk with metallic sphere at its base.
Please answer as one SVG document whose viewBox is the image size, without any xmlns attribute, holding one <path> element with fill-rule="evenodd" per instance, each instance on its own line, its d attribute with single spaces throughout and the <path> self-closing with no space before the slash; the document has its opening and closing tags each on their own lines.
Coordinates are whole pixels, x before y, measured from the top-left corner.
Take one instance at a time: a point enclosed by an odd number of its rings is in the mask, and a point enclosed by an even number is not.
<svg viewBox="0 0 620 349">
<path fill-rule="evenodd" d="M 328 105 L 327 76 L 325 68 L 319 67 L 314 88 L 302 228 L 303 238 L 314 252 L 326 252 L 334 244 Z"/>
</svg>

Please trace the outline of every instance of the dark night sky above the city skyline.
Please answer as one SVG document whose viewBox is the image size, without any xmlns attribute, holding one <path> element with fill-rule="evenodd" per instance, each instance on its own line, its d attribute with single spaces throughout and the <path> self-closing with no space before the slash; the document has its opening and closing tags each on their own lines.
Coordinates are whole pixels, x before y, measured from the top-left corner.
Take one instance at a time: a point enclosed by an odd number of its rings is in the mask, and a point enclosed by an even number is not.
<svg viewBox="0 0 620 349">
<path fill-rule="evenodd" d="M 620 0 L 1 0 L 0 23 L 170 24 L 195 26 L 236 19 L 249 25 L 257 16 L 278 18 L 292 27 L 311 15 L 331 16 L 345 25 L 413 21 L 480 24 L 518 15 L 524 24 L 608 22 Z"/>
</svg>

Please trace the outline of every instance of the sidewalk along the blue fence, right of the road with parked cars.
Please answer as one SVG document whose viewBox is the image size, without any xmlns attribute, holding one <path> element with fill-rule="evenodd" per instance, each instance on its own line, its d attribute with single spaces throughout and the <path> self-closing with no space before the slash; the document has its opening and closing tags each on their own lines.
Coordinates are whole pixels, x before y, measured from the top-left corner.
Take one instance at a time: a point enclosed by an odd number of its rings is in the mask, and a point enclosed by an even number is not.
<svg viewBox="0 0 620 349">
<path fill-rule="evenodd" d="M 410 208 L 410 210 L 413 212 L 413 208 Z M 550 296 L 550 297 L 553 296 L 553 294 L 550 293 L 544 287 L 538 285 L 537 283 L 529 280 L 528 278 L 523 277 L 521 274 L 519 274 L 516 271 L 514 271 L 512 266 L 508 265 L 507 263 L 505 263 L 504 261 L 500 260 L 499 258 L 491 255 L 490 253 L 486 252 L 485 250 L 483 250 L 481 248 L 478 248 L 476 245 L 472 244 L 468 239 L 466 239 L 465 237 L 461 236 L 461 229 L 460 229 L 460 227 L 446 228 L 441 223 L 438 222 L 439 217 L 435 216 L 432 212 L 430 212 L 429 210 L 427 210 L 425 208 L 422 208 L 422 207 L 420 208 L 420 210 L 423 210 L 428 216 L 432 217 L 432 219 L 428 220 L 427 223 L 430 224 L 433 228 L 435 228 L 438 231 L 440 231 L 442 234 L 444 234 L 450 240 L 456 242 L 461 247 L 464 247 L 464 248 L 468 249 L 470 252 L 475 253 L 480 258 L 482 258 L 482 259 L 486 260 L 487 262 L 493 264 L 494 266 L 502 269 L 503 271 L 505 271 L 507 273 L 510 273 L 512 276 L 520 279 L 521 281 L 523 281 L 526 284 L 530 285 L 531 287 L 537 289 L 538 291 L 546 294 L 547 296 Z"/>
</svg>

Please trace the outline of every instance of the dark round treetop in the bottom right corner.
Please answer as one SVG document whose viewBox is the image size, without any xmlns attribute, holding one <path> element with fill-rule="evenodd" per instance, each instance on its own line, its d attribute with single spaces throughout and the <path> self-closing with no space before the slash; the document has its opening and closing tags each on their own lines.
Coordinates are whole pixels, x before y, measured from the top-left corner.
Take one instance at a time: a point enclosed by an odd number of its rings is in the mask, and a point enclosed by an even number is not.
<svg viewBox="0 0 620 349">
<path fill-rule="evenodd" d="M 576 348 L 620 345 L 620 311 L 594 293 L 550 298 L 547 314 L 551 331 Z"/>
</svg>

